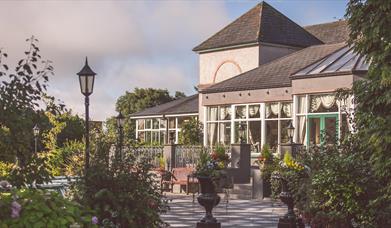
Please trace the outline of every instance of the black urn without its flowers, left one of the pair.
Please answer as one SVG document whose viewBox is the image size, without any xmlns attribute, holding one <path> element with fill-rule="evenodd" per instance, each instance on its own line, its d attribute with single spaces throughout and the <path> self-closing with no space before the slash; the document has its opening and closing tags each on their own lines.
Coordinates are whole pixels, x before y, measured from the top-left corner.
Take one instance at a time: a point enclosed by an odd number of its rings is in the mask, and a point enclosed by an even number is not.
<svg viewBox="0 0 391 228">
<path fill-rule="evenodd" d="M 201 195 L 197 197 L 197 200 L 205 208 L 205 216 L 197 222 L 197 228 L 220 228 L 220 222 L 212 215 L 213 208 L 220 203 L 216 186 L 209 176 L 198 176 L 197 179 L 201 186 Z"/>
</svg>

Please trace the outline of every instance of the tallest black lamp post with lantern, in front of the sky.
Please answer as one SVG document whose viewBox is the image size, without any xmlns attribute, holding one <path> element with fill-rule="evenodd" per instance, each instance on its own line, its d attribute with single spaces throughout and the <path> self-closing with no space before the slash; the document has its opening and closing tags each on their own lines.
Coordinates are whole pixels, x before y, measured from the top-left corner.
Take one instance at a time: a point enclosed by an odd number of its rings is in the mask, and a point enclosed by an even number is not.
<svg viewBox="0 0 391 228">
<path fill-rule="evenodd" d="M 95 81 L 95 75 L 96 73 L 92 71 L 90 66 L 88 66 L 88 60 L 86 57 L 86 62 L 84 67 L 80 70 L 79 73 L 77 73 L 79 76 L 79 83 L 80 83 L 80 90 L 81 93 L 84 95 L 84 104 L 86 108 L 85 113 L 85 121 L 86 121 L 86 151 L 85 151 L 85 171 L 88 170 L 90 166 L 90 124 L 89 124 L 89 105 L 90 105 L 90 98 L 89 96 L 92 94 L 94 89 L 94 81 Z"/>
</svg>

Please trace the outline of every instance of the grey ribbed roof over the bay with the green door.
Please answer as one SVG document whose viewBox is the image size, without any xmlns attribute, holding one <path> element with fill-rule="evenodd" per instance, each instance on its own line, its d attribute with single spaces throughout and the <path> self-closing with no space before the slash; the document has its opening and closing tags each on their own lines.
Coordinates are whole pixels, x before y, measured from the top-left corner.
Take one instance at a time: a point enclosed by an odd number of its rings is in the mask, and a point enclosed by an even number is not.
<svg viewBox="0 0 391 228">
<path fill-rule="evenodd" d="M 344 47 L 333 54 L 316 61 L 315 63 L 301 69 L 293 74 L 293 78 L 308 78 L 329 75 L 340 75 L 346 73 L 366 73 L 369 63 L 365 56 L 354 52 L 352 47 Z"/>
</svg>

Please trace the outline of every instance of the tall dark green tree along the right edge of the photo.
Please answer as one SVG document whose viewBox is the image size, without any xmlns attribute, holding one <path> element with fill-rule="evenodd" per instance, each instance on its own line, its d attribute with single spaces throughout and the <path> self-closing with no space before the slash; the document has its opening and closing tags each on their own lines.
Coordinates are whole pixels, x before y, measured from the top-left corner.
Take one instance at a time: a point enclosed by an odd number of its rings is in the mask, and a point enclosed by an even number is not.
<svg viewBox="0 0 391 228">
<path fill-rule="evenodd" d="M 370 61 L 367 77 L 353 86 L 355 96 L 355 138 L 369 162 L 377 186 L 369 194 L 372 225 L 391 224 L 391 3 L 351 0 L 346 16 L 349 43 Z"/>
</svg>

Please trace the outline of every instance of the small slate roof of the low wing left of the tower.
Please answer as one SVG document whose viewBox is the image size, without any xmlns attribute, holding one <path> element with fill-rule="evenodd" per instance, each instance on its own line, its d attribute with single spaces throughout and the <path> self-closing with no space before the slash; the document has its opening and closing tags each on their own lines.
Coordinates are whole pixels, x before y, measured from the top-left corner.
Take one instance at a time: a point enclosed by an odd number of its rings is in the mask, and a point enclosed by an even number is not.
<svg viewBox="0 0 391 228">
<path fill-rule="evenodd" d="M 171 102 L 144 109 L 130 115 L 130 117 L 175 115 L 175 114 L 198 114 L 198 94 L 180 98 Z"/>
</svg>

